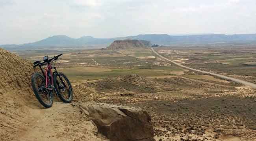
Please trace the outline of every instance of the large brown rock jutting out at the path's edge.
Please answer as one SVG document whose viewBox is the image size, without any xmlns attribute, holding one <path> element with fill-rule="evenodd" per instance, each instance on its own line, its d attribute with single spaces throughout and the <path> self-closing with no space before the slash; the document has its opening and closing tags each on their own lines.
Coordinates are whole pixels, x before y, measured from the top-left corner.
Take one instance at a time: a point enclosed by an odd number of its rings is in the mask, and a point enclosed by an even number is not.
<svg viewBox="0 0 256 141">
<path fill-rule="evenodd" d="M 147 112 L 111 104 L 85 103 L 83 111 L 98 131 L 112 141 L 154 141 Z"/>
</svg>

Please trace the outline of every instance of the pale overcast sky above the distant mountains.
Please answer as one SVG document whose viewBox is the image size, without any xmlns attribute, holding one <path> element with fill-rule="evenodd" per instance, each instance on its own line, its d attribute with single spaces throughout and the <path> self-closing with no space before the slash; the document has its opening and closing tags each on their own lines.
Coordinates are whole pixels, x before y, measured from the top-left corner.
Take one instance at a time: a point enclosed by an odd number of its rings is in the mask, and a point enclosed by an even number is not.
<svg viewBox="0 0 256 141">
<path fill-rule="evenodd" d="M 0 44 L 198 33 L 256 33 L 256 0 L 0 0 Z"/>
</svg>

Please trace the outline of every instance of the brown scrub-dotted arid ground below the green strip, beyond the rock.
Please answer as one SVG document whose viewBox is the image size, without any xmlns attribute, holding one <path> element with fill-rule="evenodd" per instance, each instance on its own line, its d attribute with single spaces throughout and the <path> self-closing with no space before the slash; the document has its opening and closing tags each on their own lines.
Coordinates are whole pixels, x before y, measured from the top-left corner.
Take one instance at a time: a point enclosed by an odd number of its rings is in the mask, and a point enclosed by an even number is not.
<svg viewBox="0 0 256 141">
<path fill-rule="evenodd" d="M 133 106 L 152 116 L 162 141 L 247 141 L 256 138 L 256 95 L 249 87 L 186 77 L 137 75 L 76 86 L 92 100 Z"/>
</svg>

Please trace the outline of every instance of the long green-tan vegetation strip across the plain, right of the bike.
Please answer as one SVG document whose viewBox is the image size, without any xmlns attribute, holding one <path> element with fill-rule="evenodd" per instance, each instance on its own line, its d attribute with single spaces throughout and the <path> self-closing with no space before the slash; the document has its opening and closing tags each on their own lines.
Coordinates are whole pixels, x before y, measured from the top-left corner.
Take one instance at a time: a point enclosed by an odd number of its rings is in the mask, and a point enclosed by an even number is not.
<svg viewBox="0 0 256 141">
<path fill-rule="evenodd" d="M 100 79 L 120 75 L 138 74 L 139 76 L 152 77 L 163 75 L 176 75 L 178 71 L 184 71 L 175 66 L 135 67 L 132 69 L 117 69 L 103 67 L 74 67 L 60 68 L 68 77 L 75 80 Z"/>
</svg>

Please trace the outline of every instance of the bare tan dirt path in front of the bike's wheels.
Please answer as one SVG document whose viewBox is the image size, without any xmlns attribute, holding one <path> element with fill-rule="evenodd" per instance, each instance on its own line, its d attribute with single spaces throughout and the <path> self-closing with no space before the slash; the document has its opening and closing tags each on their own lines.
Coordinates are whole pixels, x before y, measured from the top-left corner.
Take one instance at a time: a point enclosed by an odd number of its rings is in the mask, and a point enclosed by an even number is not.
<svg viewBox="0 0 256 141">
<path fill-rule="evenodd" d="M 16 141 L 108 141 L 75 104 L 55 102 L 52 108 L 30 108 Z M 100 136 L 100 135 L 99 135 Z"/>
</svg>

